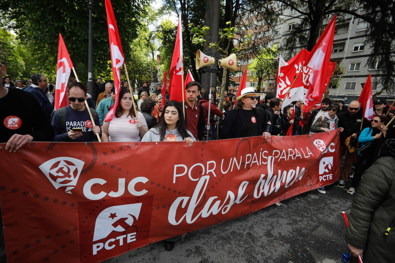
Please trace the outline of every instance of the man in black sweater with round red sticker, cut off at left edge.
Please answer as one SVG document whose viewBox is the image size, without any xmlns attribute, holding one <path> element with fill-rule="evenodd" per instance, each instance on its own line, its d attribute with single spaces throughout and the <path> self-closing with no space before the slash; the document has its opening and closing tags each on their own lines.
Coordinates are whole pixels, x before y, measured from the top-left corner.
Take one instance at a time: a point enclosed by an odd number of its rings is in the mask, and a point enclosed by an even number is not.
<svg viewBox="0 0 395 263">
<path fill-rule="evenodd" d="M 0 62 L 0 76 L 6 75 Z M 34 96 L 0 82 L 0 142 L 6 151 L 16 152 L 31 141 L 51 142 L 54 132 Z"/>
</svg>

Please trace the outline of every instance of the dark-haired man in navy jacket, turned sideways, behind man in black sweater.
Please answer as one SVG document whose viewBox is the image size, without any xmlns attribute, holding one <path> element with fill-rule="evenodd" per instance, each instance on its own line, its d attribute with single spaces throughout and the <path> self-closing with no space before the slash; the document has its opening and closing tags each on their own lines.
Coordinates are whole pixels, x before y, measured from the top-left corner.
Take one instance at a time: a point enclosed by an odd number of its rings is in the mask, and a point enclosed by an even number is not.
<svg viewBox="0 0 395 263">
<path fill-rule="evenodd" d="M 42 74 L 36 73 L 32 75 L 32 84 L 26 88 L 26 91 L 33 94 L 43 109 L 48 121 L 50 121 L 53 106 L 47 97 L 47 84 L 47 78 Z"/>
</svg>

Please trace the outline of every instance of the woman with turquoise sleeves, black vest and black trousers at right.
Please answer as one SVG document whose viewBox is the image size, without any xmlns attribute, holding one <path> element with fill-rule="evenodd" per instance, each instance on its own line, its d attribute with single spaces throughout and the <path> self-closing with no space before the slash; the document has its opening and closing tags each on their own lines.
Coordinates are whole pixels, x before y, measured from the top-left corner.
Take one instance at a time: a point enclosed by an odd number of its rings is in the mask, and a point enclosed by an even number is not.
<svg viewBox="0 0 395 263">
<path fill-rule="evenodd" d="M 387 128 L 385 126 L 387 118 L 385 116 L 376 115 L 371 122 L 372 127 L 363 129 L 358 137 L 361 148 L 358 150 L 355 161 L 356 167 L 351 187 L 347 191 L 349 194 L 354 194 L 363 172 L 377 160 L 378 150 L 387 136 Z"/>
</svg>

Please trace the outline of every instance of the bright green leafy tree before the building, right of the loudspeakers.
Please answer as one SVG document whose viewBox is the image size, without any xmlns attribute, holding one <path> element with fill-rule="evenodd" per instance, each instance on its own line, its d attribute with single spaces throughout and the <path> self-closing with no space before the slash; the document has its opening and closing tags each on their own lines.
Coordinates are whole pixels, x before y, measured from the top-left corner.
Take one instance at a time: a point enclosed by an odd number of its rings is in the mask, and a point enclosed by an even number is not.
<svg viewBox="0 0 395 263">
<path fill-rule="evenodd" d="M 251 80 L 258 79 L 258 92 L 261 91 L 262 80 L 269 79 L 271 76 L 277 74 L 278 58 L 277 47 L 263 48 L 258 56 L 248 65 L 248 70 L 253 75 Z"/>
</svg>

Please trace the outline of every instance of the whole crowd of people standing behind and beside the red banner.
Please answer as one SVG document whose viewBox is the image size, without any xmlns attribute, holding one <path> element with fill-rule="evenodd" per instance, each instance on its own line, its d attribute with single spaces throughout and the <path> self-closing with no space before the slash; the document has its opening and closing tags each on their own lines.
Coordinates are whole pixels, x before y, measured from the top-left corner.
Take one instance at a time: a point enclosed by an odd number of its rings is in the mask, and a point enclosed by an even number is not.
<svg viewBox="0 0 395 263">
<path fill-rule="evenodd" d="M 6 74 L 5 65 L 1 65 L 0 74 Z M 183 108 L 181 103 L 169 101 L 168 95 L 166 98 L 160 95 L 161 84 L 151 94 L 147 84 L 143 84 L 136 102 L 125 81 L 114 117 L 105 121 L 115 103 L 115 88 L 101 78 L 94 85 L 93 95 L 87 93 L 87 86 L 71 79 L 67 93 L 70 105 L 56 111 L 47 96 L 49 87 L 44 75 L 33 74 L 26 87 L 20 80 L 15 83 L 5 77 L 0 86 L 0 112 L 4 120 L 1 142 L 6 142 L 5 149 L 9 152 L 16 152 L 31 141 L 95 142 L 100 137 L 102 142 L 184 141 L 193 145 L 206 138 L 263 136 L 269 140 L 271 136 L 290 135 L 290 127 L 292 135 L 330 134 L 340 128 L 340 156 L 345 155 L 345 162 L 336 184 L 340 188 L 349 185 L 347 192 L 354 194 L 365 170 L 380 156 L 382 145 L 391 149 L 393 144 L 388 141 L 395 138 L 394 124 L 386 127 L 395 113 L 388 111 L 382 98 L 374 102 L 374 118 L 369 122 L 363 118 L 363 109 L 356 100 L 347 107 L 344 101 L 324 98 L 320 105 L 302 113 L 302 101 L 282 105 L 282 100 L 272 94 L 260 101 L 261 94 L 250 87 L 241 90 L 239 96 L 229 90 L 221 111 L 217 108 L 215 87 L 201 89 L 199 82 L 191 81 L 185 87 Z M 212 101 L 209 101 L 210 93 Z M 220 134 L 216 134 L 217 127 Z M 326 194 L 324 187 L 318 191 Z M 166 250 L 173 249 L 176 240 L 168 239 Z"/>
</svg>

